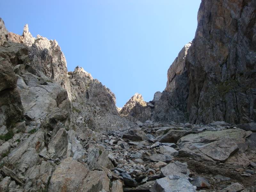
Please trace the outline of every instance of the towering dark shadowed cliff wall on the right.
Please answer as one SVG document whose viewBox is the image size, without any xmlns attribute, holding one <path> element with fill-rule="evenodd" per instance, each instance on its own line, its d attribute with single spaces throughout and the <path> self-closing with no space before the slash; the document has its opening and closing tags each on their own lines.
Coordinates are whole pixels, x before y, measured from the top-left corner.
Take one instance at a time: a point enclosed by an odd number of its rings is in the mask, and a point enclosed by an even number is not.
<svg viewBox="0 0 256 192">
<path fill-rule="evenodd" d="M 255 1 L 202 1 L 192 42 L 167 73 L 151 120 L 256 121 Z"/>
</svg>

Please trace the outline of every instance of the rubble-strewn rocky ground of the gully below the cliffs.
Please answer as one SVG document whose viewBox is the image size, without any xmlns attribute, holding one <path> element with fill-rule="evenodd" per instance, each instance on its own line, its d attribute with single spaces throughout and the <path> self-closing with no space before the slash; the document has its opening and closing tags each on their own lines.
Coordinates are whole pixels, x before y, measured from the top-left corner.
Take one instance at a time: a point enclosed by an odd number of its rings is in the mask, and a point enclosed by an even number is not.
<svg viewBox="0 0 256 192">
<path fill-rule="evenodd" d="M 146 121 L 87 138 L 61 123 L 27 129 L 1 141 L 2 191 L 256 191 L 255 124 Z"/>
</svg>

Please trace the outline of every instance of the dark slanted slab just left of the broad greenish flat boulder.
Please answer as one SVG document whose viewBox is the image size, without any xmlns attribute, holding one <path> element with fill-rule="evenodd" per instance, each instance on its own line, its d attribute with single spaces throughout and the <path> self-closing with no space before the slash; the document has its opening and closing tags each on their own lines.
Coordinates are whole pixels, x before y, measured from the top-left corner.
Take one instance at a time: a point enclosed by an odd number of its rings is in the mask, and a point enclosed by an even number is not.
<svg viewBox="0 0 256 192">
<path fill-rule="evenodd" d="M 160 137 L 157 142 L 167 142 L 167 143 L 176 143 L 181 137 L 192 133 L 192 131 L 185 130 L 170 130 L 162 137 Z"/>
</svg>

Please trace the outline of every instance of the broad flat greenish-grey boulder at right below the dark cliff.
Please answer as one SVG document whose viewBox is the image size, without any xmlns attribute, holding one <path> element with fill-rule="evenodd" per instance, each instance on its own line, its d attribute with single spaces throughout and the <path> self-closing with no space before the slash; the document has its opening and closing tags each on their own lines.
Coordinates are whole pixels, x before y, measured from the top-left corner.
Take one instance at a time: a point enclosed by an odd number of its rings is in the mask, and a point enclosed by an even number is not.
<svg viewBox="0 0 256 192">
<path fill-rule="evenodd" d="M 190 134 L 178 141 L 178 146 L 180 147 L 179 156 L 192 157 L 199 161 L 225 162 L 238 151 L 238 157 L 232 158 L 227 162 L 230 164 L 244 164 L 246 166 L 249 159 L 244 152 L 248 148 L 246 138 L 250 134 L 251 132 L 241 129 Z M 247 159 L 247 163 L 245 159 Z"/>
</svg>

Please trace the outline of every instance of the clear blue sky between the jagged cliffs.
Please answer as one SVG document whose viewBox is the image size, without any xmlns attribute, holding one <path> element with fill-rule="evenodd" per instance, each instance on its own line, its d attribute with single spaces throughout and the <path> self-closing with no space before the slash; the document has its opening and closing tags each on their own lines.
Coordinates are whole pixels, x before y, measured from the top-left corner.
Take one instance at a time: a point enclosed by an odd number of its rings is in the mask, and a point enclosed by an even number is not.
<svg viewBox="0 0 256 192">
<path fill-rule="evenodd" d="M 78 65 L 116 95 L 163 91 L 167 70 L 195 36 L 201 0 L 0 1 L 8 31 L 56 39 L 69 71 Z"/>
</svg>

